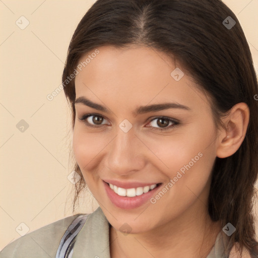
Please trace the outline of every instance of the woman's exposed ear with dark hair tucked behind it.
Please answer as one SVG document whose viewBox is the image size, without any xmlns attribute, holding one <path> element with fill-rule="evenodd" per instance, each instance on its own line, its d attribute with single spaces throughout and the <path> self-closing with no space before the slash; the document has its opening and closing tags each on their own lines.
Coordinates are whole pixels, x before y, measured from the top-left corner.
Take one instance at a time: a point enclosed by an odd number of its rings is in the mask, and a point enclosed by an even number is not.
<svg viewBox="0 0 258 258">
<path fill-rule="evenodd" d="M 226 130 L 220 132 L 218 138 L 217 157 L 226 158 L 233 155 L 242 144 L 249 122 L 249 107 L 246 103 L 237 103 L 230 109 L 224 119 Z"/>
</svg>

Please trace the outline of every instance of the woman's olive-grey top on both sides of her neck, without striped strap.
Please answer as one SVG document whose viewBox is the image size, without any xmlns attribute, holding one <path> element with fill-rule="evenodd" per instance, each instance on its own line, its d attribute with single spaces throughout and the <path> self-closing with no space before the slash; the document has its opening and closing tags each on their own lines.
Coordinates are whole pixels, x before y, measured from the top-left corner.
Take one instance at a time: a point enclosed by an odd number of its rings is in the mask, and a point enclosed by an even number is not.
<svg viewBox="0 0 258 258">
<path fill-rule="evenodd" d="M 16 239 L 1 252 L 0 258 L 55 258 L 63 234 L 79 214 L 70 216 Z M 110 258 L 109 223 L 99 207 L 91 213 L 76 236 L 73 258 Z M 228 258 L 224 254 L 227 241 L 221 231 L 207 258 Z"/>
</svg>

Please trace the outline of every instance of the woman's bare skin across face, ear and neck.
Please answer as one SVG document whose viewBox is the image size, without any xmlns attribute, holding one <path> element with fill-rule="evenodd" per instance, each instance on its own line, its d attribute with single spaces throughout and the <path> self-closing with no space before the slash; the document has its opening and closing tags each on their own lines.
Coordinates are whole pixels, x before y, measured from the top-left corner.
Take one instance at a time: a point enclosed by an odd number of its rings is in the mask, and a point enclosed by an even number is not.
<svg viewBox="0 0 258 258">
<path fill-rule="evenodd" d="M 98 49 L 100 53 L 75 78 L 76 98 L 87 97 L 110 113 L 76 103 L 73 148 L 84 179 L 111 224 L 111 257 L 206 257 L 222 229 L 208 214 L 212 166 L 216 157 L 231 156 L 240 147 L 248 106 L 232 107 L 223 118 L 227 130 L 221 129 L 217 137 L 209 99 L 186 72 L 179 81 L 171 77 L 176 67 L 184 71 L 180 64 L 146 46 Z M 140 105 L 164 102 L 177 102 L 190 110 L 133 114 Z M 94 117 L 87 118 L 98 128 L 79 119 L 92 112 L 104 118 L 97 124 Z M 151 120 L 161 116 L 179 124 L 170 122 L 168 130 L 155 130 L 162 125 L 158 119 Z M 124 119 L 133 125 L 127 133 L 119 127 Z M 166 185 L 199 152 L 203 156 L 155 204 L 123 210 L 106 195 L 103 178 Z M 119 231 L 124 223 L 132 228 L 128 234 Z"/>
</svg>

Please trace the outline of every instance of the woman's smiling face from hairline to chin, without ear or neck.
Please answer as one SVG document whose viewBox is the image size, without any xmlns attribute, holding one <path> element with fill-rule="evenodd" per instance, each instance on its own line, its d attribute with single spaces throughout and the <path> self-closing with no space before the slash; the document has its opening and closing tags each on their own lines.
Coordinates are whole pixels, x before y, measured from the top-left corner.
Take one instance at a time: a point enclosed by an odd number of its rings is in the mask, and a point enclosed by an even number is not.
<svg viewBox="0 0 258 258">
<path fill-rule="evenodd" d="M 73 147 L 110 224 L 137 233 L 208 214 L 217 139 L 205 95 L 156 49 L 98 51 L 77 67 Z"/>
</svg>

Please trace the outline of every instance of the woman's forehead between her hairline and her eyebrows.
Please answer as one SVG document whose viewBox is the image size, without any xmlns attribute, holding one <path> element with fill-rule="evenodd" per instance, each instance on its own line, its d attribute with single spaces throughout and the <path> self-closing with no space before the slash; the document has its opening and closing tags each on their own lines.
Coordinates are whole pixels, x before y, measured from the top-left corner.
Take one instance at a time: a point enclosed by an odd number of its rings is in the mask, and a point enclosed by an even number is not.
<svg viewBox="0 0 258 258">
<path fill-rule="evenodd" d="M 165 53 L 144 46 L 97 49 L 97 55 L 89 52 L 79 61 L 88 58 L 87 65 L 84 62 L 81 71 L 77 69 L 76 98 L 87 96 L 97 103 L 115 100 L 124 108 L 165 101 L 201 108 L 207 105 L 205 96 L 180 64 Z M 173 77 L 178 71 L 180 77 L 183 75 L 179 81 Z"/>
</svg>

